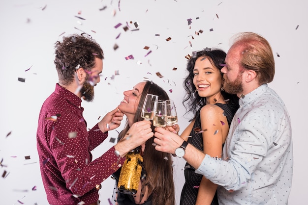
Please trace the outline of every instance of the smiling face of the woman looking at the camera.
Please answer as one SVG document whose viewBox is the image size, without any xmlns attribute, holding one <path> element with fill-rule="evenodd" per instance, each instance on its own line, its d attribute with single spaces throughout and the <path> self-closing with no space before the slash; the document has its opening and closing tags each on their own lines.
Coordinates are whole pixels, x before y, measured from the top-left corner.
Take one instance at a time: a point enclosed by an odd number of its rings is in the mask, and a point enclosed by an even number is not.
<svg viewBox="0 0 308 205">
<path fill-rule="evenodd" d="M 193 84 L 199 96 L 212 102 L 216 94 L 220 93 L 222 76 L 219 69 L 213 66 L 209 57 L 201 56 L 195 62 L 193 75 Z"/>
</svg>

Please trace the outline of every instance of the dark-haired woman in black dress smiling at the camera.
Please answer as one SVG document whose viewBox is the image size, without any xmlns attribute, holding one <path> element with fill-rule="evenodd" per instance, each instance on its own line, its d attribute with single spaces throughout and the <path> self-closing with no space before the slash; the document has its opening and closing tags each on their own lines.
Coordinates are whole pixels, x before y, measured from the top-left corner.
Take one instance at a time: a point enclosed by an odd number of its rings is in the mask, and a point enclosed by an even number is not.
<svg viewBox="0 0 308 205">
<path fill-rule="evenodd" d="M 187 63 L 188 76 L 184 81 L 183 104 L 194 117 L 181 137 L 205 154 L 218 157 L 239 106 L 236 95 L 221 90 L 223 74 L 220 69 L 225 57 L 226 53 L 221 50 L 196 52 Z M 180 204 L 218 205 L 217 185 L 194 171 L 195 168 L 186 163 Z"/>
</svg>

